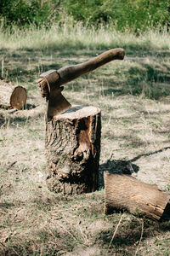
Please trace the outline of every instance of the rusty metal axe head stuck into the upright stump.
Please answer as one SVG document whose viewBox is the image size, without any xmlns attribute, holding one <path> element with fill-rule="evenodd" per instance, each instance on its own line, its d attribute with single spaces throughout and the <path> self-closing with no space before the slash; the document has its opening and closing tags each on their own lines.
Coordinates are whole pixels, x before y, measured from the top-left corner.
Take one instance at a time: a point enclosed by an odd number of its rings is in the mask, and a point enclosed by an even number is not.
<svg viewBox="0 0 170 256">
<path fill-rule="evenodd" d="M 42 92 L 42 96 L 46 97 L 48 102 L 48 120 L 71 108 L 71 104 L 61 94 L 64 87 L 59 86 L 59 74 L 56 70 L 49 70 L 48 72 L 42 73 L 37 84 Z"/>
</svg>

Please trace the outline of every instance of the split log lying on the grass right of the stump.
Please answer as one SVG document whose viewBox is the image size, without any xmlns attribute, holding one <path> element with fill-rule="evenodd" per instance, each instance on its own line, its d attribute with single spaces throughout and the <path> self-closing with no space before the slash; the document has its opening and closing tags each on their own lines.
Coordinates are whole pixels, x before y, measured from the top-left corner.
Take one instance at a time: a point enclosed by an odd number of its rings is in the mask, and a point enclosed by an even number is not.
<svg viewBox="0 0 170 256">
<path fill-rule="evenodd" d="M 169 199 L 170 195 L 158 189 L 156 184 L 143 183 L 129 175 L 105 172 L 105 214 L 115 209 L 127 210 L 160 220 L 168 208 Z"/>
</svg>

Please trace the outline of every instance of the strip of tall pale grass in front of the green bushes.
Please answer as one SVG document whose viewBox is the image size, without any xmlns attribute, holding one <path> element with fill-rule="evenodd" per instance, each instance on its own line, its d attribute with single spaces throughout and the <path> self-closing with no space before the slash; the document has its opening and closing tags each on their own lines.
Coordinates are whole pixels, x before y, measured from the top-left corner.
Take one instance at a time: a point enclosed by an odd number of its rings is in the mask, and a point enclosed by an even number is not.
<svg viewBox="0 0 170 256">
<path fill-rule="evenodd" d="M 141 49 L 170 49 L 169 38 L 169 33 L 166 31 L 149 30 L 136 36 L 128 31 L 117 32 L 110 26 L 101 26 L 99 29 L 93 26 L 87 28 L 80 22 L 73 25 L 71 20 L 67 20 L 64 25 L 55 24 L 49 29 L 30 26 L 25 30 L 14 27 L 12 34 L 8 30 L 1 32 L 0 48 L 26 49 L 30 51 L 30 55 L 33 50 L 46 49 L 48 51 L 62 49 L 62 55 L 69 50 L 75 55 L 75 49 L 77 49 L 76 55 L 79 55 L 79 49 L 84 49 L 87 53 L 87 50 L 122 47 L 131 49 L 132 54 L 132 51 Z"/>
</svg>

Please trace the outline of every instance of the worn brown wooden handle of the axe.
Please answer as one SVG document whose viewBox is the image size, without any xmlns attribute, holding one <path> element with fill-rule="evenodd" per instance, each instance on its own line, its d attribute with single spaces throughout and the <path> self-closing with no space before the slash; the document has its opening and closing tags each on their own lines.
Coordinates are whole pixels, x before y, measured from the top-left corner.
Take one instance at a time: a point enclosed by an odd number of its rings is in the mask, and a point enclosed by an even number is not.
<svg viewBox="0 0 170 256">
<path fill-rule="evenodd" d="M 82 64 L 77 64 L 69 67 L 60 68 L 57 73 L 59 74 L 59 81 L 57 84 L 66 84 L 73 79 L 77 79 L 85 73 L 89 73 L 94 69 L 114 60 L 123 60 L 124 49 L 116 48 L 105 51 L 103 54 L 94 57 L 90 61 Z"/>
</svg>

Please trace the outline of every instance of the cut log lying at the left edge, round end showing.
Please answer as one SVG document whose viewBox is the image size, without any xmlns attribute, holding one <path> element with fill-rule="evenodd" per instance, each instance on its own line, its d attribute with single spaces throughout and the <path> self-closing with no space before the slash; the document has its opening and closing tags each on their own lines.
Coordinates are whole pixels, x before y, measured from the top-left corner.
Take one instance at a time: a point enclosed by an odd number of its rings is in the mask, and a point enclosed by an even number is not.
<svg viewBox="0 0 170 256">
<path fill-rule="evenodd" d="M 0 108 L 22 109 L 26 105 L 26 98 L 25 88 L 14 86 L 6 80 L 0 80 Z"/>
</svg>

